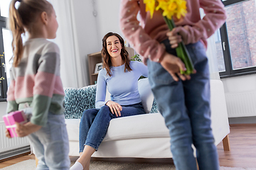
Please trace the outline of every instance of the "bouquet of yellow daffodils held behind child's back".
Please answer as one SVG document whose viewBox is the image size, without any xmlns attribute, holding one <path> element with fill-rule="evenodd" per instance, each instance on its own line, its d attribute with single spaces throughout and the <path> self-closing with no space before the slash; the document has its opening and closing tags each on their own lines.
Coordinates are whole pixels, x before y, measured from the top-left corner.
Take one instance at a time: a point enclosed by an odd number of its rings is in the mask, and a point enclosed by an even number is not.
<svg viewBox="0 0 256 170">
<path fill-rule="evenodd" d="M 144 0 L 143 2 L 146 4 L 146 12 L 150 12 L 151 18 L 154 11 L 160 10 L 162 12 L 164 21 L 166 21 L 169 30 L 172 30 L 175 27 L 172 19 L 174 16 L 180 19 L 181 16 L 185 16 L 187 13 L 185 0 Z M 192 74 L 194 69 L 193 64 L 183 42 L 180 42 L 178 47 L 176 47 L 176 53 L 186 66 L 186 71 L 181 71 L 181 74 Z"/>
</svg>

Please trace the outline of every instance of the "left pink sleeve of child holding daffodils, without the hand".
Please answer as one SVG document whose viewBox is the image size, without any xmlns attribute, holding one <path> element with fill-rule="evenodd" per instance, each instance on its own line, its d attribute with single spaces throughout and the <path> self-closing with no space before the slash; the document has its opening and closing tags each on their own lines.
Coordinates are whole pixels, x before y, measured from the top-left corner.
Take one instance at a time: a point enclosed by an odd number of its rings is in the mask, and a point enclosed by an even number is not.
<svg viewBox="0 0 256 170">
<path fill-rule="evenodd" d="M 139 21 L 137 20 L 138 12 L 138 0 L 122 0 L 120 8 L 120 27 L 122 33 L 136 52 L 144 57 L 144 63 L 146 58 L 159 62 L 164 55 L 165 47 L 150 38 L 142 26 L 139 26 Z"/>
</svg>

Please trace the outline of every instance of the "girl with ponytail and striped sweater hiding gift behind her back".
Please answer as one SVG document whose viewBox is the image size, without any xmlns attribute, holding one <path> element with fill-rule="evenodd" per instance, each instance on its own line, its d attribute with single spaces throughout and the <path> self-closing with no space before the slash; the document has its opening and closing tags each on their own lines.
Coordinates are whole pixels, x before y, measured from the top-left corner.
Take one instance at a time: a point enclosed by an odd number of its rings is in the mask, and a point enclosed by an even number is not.
<svg viewBox="0 0 256 170">
<path fill-rule="evenodd" d="M 21 0 L 10 5 L 9 24 L 14 51 L 7 113 L 32 108 L 30 122 L 16 123 L 18 137 L 28 136 L 38 158 L 37 169 L 69 169 L 68 133 L 63 114 L 60 52 L 54 39 L 58 23 L 46 0 Z M 28 33 L 23 45 L 21 34 Z M 9 132 L 6 131 L 6 136 Z"/>
</svg>

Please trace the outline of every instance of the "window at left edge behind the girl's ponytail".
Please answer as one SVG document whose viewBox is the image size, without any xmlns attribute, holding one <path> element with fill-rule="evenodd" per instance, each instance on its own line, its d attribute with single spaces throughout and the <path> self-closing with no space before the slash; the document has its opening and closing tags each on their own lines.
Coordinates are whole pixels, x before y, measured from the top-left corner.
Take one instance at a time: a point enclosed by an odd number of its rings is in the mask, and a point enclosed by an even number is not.
<svg viewBox="0 0 256 170">
<path fill-rule="evenodd" d="M 9 16 L 11 0 L 0 0 L 0 101 L 6 101 L 6 91 L 9 84 L 9 60 L 12 56 L 11 33 L 6 29 L 6 19 Z"/>
</svg>

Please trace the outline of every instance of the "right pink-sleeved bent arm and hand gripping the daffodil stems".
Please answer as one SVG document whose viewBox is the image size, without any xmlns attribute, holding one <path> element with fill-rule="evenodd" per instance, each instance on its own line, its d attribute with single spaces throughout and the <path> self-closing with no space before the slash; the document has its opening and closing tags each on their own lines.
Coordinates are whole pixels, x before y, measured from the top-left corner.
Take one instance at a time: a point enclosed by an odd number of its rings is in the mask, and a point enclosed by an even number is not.
<svg viewBox="0 0 256 170">
<path fill-rule="evenodd" d="M 187 1 L 188 10 L 195 10 L 199 11 L 198 6 L 194 6 L 192 1 Z M 177 34 L 181 35 L 182 40 L 185 45 L 188 45 L 190 43 L 198 42 L 198 40 L 206 40 L 209 38 L 213 33 L 215 33 L 220 26 L 223 25 L 225 22 L 225 19 L 227 18 L 225 13 L 225 8 L 223 3 L 220 0 L 199 0 L 200 7 L 203 8 L 204 12 L 206 13 L 205 16 L 201 20 L 198 20 L 196 23 L 193 24 L 193 26 L 186 25 L 186 26 L 177 26 L 173 30 L 171 30 L 169 33 L 167 33 L 167 36 L 169 36 L 169 40 L 171 43 L 171 47 L 176 47 L 176 42 L 174 41 L 174 38 L 176 37 L 176 40 L 178 40 Z M 193 19 L 193 13 L 188 13 L 188 19 Z M 173 38 L 173 39 L 172 39 Z M 172 40 L 171 40 L 172 39 Z M 206 41 L 205 41 L 206 42 Z"/>
</svg>

